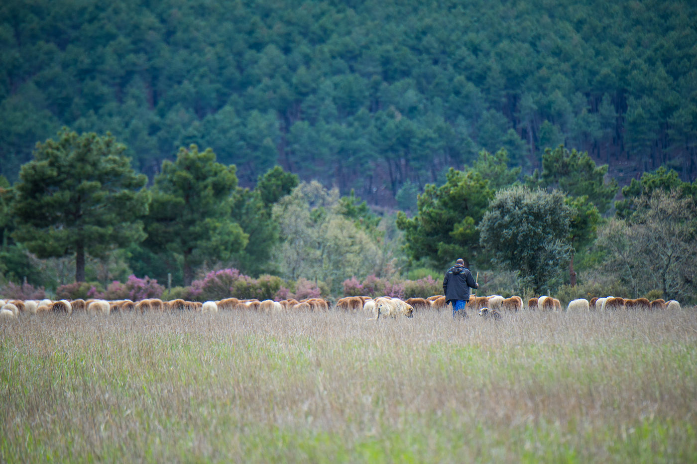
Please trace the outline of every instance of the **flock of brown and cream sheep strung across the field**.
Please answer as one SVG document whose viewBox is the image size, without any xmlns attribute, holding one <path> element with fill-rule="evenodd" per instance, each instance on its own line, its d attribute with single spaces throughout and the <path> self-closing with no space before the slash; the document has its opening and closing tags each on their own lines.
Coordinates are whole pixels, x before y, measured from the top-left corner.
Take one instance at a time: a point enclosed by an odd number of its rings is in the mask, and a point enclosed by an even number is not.
<svg viewBox="0 0 697 464">
<path fill-rule="evenodd" d="M 397 318 L 398 316 L 413 317 L 414 312 L 424 310 L 446 309 L 445 297 L 434 295 L 428 298 L 409 298 L 400 300 L 393 297 L 367 297 L 351 296 L 339 298 L 333 305 L 337 311 L 364 312 L 372 314 L 372 318 Z M 309 298 L 306 300 L 238 300 L 237 298 L 225 298 L 219 301 L 192 302 L 185 300 L 162 301 L 158 298 L 140 300 L 0 300 L 0 320 L 12 320 L 20 314 L 47 314 L 86 311 L 90 314 L 110 314 L 120 311 L 136 311 L 146 313 L 150 311 L 198 311 L 201 313 L 217 313 L 230 310 L 254 310 L 266 313 L 278 313 L 282 311 L 329 311 L 332 304 L 323 298 Z M 523 305 L 523 299 L 517 295 L 505 298 L 500 295 L 477 297 L 470 296 L 467 309 L 475 311 L 484 318 L 502 318 L 502 312 L 516 312 L 523 309 L 540 311 L 561 311 L 559 300 L 550 296 L 533 297 Z M 646 298 L 628 300 L 620 297 L 585 298 L 572 300 L 567 306 L 567 311 L 606 311 L 611 309 L 680 309 L 680 303 L 675 300 L 658 299 L 650 301 Z"/>
</svg>

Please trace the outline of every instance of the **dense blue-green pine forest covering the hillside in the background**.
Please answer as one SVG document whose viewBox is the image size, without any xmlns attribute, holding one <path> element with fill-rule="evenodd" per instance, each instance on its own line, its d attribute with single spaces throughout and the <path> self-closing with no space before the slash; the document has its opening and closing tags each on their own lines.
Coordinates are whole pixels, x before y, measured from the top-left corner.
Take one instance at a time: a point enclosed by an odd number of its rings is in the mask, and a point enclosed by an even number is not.
<svg viewBox="0 0 697 464">
<path fill-rule="evenodd" d="M 0 174 L 66 126 L 151 182 L 197 144 L 240 185 L 279 164 L 382 206 L 501 147 L 692 181 L 696 43 L 689 0 L 6 0 Z"/>
</svg>

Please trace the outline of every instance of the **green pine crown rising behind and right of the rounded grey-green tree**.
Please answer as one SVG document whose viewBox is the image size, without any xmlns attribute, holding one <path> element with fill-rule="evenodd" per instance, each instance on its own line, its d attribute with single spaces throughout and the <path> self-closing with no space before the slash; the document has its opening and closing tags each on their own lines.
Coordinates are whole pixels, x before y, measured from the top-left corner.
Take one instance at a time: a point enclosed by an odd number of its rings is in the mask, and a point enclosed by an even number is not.
<svg viewBox="0 0 697 464">
<path fill-rule="evenodd" d="M 588 152 L 569 151 L 560 145 L 546 148 L 542 155 L 542 173 L 535 171 L 528 184 L 542 188 L 557 188 L 570 196 L 587 196 L 598 211 L 604 213 L 618 191 L 617 180 L 605 181 L 608 167 L 596 167 Z"/>
</svg>

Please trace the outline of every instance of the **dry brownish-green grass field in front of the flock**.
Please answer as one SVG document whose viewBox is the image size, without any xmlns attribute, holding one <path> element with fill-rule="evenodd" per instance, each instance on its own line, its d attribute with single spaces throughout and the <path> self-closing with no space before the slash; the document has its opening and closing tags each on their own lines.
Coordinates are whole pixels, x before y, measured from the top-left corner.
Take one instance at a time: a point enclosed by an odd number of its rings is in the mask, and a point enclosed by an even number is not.
<svg viewBox="0 0 697 464">
<path fill-rule="evenodd" d="M 697 310 L 24 316 L 3 462 L 696 463 Z"/>
</svg>

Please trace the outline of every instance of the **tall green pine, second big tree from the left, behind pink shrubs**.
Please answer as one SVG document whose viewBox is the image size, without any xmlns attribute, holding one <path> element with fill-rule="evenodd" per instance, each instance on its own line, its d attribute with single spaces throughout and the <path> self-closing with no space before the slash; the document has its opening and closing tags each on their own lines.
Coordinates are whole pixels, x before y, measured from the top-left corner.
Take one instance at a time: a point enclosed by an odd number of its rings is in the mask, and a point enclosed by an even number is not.
<svg viewBox="0 0 697 464">
<path fill-rule="evenodd" d="M 236 167 L 215 162 L 213 150 L 199 152 L 195 145 L 180 148 L 155 176 L 144 245 L 180 255 L 185 285 L 206 259 L 226 261 L 247 245 L 248 235 L 231 215 L 236 187 Z"/>
</svg>

